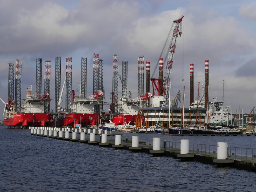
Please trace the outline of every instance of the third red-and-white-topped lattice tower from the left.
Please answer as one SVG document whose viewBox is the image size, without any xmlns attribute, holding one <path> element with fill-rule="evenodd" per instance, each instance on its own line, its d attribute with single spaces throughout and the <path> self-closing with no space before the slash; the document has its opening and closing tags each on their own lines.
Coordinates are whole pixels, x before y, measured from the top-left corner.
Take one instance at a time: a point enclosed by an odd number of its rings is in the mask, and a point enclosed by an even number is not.
<svg viewBox="0 0 256 192">
<path fill-rule="evenodd" d="M 72 102 L 72 58 L 66 59 L 66 112 L 71 112 Z"/>
</svg>

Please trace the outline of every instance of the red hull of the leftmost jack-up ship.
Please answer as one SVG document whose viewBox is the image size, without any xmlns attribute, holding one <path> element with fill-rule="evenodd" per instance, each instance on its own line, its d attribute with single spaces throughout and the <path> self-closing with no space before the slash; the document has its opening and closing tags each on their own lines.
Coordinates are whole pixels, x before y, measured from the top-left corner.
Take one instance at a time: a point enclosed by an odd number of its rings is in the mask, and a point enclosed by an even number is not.
<svg viewBox="0 0 256 192">
<path fill-rule="evenodd" d="M 6 126 L 50 126 L 53 114 L 49 113 L 17 113 L 14 117 L 6 118 Z"/>
</svg>

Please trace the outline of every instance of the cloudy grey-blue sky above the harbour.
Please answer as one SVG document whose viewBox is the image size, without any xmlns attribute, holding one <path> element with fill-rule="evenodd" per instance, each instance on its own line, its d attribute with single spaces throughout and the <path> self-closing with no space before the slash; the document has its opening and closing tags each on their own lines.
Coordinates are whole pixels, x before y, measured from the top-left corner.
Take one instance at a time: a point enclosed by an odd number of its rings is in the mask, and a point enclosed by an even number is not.
<svg viewBox="0 0 256 192">
<path fill-rule="evenodd" d="M 32 85 L 35 90 L 36 58 L 39 57 L 52 61 L 51 108 L 54 108 L 57 56 L 61 56 L 61 87 L 66 75 L 66 58 L 72 57 L 74 90 L 81 78 L 81 58 L 87 58 L 87 96 L 92 95 L 93 53 L 99 53 L 104 61 L 106 102 L 110 102 L 112 91 L 114 54 L 119 55 L 120 74 L 122 61 L 128 61 L 128 91 L 135 98 L 138 56 L 144 56 L 145 64 L 150 61 L 152 75 L 173 20 L 184 15 L 171 72 L 172 97 L 185 86 L 185 107 L 188 107 L 189 64 L 194 63 L 196 93 L 198 82 L 204 83 L 204 61 L 209 60 L 210 101 L 215 97 L 222 101 L 224 80 L 224 105 L 230 105 L 232 113 L 238 106 L 249 113 L 256 105 L 254 1 L 0 0 L 0 7 L 0 98 L 5 102 L 8 100 L 8 62 L 22 60 L 22 98 L 25 98 L 27 86 Z M 44 76 L 42 83 L 44 92 Z M 65 91 L 62 100 L 63 105 Z M 3 103 L 1 108 L 4 109 Z"/>
</svg>

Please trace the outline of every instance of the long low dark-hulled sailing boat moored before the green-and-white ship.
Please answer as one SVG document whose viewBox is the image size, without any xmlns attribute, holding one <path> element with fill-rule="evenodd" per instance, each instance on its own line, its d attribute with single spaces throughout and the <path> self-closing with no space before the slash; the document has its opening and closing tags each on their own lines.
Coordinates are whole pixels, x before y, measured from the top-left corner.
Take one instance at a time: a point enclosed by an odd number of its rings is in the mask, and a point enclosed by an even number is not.
<svg viewBox="0 0 256 192">
<path fill-rule="evenodd" d="M 194 129 L 192 130 L 193 134 L 221 134 L 221 135 L 230 135 L 230 134 L 242 134 L 241 130 L 233 130 L 233 129 L 217 129 L 217 130 L 211 130 L 211 129 Z"/>
</svg>

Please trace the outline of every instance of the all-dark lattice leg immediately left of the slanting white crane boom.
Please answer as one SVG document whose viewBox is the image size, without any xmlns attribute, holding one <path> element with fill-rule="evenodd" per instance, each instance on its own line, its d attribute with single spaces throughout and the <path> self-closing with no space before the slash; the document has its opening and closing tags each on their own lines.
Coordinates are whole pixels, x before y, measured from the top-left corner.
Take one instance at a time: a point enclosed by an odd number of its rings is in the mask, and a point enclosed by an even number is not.
<svg viewBox="0 0 256 192">
<path fill-rule="evenodd" d="M 58 103 L 60 99 L 60 72 L 61 72 L 61 57 L 55 58 L 55 100 L 54 111 L 58 112 Z"/>
</svg>

